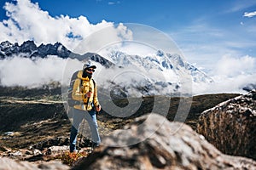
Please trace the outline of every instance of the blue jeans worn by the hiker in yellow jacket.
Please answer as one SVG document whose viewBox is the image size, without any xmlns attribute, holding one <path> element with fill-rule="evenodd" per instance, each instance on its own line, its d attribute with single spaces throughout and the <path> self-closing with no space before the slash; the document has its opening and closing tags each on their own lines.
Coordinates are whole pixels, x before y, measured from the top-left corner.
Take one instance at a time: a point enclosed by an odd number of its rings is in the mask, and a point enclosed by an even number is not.
<svg viewBox="0 0 256 170">
<path fill-rule="evenodd" d="M 100 135 L 98 132 L 98 124 L 96 122 L 96 111 L 93 108 L 91 111 L 82 111 L 74 108 L 70 108 L 73 111 L 73 124 L 70 133 L 70 152 L 76 150 L 77 136 L 79 133 L 79 125 L 85 118 L 90 126 L 92 141 L 96 144 L 101 143 Z"/>
</svg>

